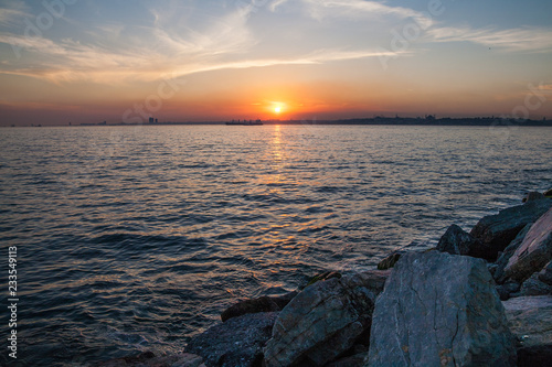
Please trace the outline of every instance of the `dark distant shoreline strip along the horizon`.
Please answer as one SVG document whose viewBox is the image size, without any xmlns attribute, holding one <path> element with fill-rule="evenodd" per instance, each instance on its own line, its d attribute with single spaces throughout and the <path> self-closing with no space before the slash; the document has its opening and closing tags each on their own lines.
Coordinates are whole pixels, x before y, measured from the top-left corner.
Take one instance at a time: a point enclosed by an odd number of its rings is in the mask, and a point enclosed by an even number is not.
<svg viewBox="0 0 552 367">
<path fill-rule="evenodd" d="M 75 123 L 75 125 L 26 125 L 11 127 L 103 127 L 103 126 L 215 126 L 226 125 L 227 121 L 161 121 L 161 122 L 144 122 L 144 123 L 127 123 L 127 122 L 98 122 L 98 123 Z M 374 118 L 358 118 L 358 119 L 337 119 L 337 120 L 265 120 L 262 125 L 341 125 L 341 126 L 471 126 L 471 127 L 552 127 L 552 120 L 521 120 L 521 119 L 502 119 L 495 117 L 474 117 L 474 118 L 440 118 L 433 116 L 425 118 L 416 117 L 374 117 Z M 252 125 L 255 126 L 255 125 Z M 9 126 L 3 126 L 9 127 Z"/>
</svg>

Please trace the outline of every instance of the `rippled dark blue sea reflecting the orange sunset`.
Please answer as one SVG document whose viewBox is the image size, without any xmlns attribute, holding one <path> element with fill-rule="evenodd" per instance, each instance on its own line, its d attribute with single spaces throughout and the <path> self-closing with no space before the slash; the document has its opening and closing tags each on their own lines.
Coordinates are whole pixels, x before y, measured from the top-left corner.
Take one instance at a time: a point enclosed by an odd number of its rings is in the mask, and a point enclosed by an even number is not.
<svg viewBox="0 0 552 367">
<path fill-rule="evenodd" d="M 513 125 L 2 128 L 0 364 L 179 353 L 238 300 L 551 188 L 551 159 L 552 128 Z"/>
</svg>

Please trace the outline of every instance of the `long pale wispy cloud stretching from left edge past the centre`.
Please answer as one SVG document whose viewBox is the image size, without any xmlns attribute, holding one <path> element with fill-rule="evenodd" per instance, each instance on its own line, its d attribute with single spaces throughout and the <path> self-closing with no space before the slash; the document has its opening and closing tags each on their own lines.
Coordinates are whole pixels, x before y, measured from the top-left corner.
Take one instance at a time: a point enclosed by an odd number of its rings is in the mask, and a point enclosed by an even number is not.
<svg viewBox="0 0 552 367">
<path fill-rule="evenodd" d="M 308 65 L 380 57 L 382 53 L 375 50 L 317 50 L 305 55 L 280 58 L 243 58 L 225 62 L 214 57 L 211 50 L 203 45 L 181 43 L 166 33 L 157 34 L 172 47 L 173 57 L 160 60 L 157 55 L 144 53 L 141 48 L 113 52 L 95 45 L 83 45 L 72 40 L 59 43 L 47 39 L 28 39 L 17 35 L 0 35 L 0 42 L 15 42 L 28 52 L 40 54 L 41 64 L 29 67 L 4 68 L 0 73 L 24 75 L 53 83 L 89 80 L 95 83 L 116 84 L 145 80 L 151 82 L 170 74 L 172 77 L 232 68 L 268 67 L 275 65 Z M 217 48 L 216 48 L 217 50 Z M 217 51 L 220 52 L 220 51 Z M 385 56 L 396 56 L 390 53 Z"/>
</svg>

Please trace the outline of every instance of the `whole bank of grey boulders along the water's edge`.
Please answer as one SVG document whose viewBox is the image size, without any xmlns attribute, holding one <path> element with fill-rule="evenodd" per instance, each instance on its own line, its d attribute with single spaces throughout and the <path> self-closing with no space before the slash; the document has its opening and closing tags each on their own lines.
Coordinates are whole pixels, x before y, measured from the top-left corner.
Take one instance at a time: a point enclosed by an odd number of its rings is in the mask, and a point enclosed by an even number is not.
<svg viewBox="0 0 552 367">
<path fill-rule="evenodd" d="M 550 366 L 552 191 L 523 202 L 378 269 L 244 300 L 182 354 L 98 366 Z"/>
</svg>

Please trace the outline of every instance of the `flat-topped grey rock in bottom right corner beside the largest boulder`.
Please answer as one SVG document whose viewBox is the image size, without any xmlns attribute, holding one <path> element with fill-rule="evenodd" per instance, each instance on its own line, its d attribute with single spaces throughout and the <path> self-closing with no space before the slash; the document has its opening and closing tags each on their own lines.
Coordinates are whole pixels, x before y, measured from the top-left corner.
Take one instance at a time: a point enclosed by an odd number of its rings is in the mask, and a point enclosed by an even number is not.
<svg viewBox="0 0 552 367">
<path fill-rule="evenodd" d="M 552 360 L 552 296 L 520 296 L 502 302 L 519 341 L 518 366 L 544 367 Z"/>
</svg>

